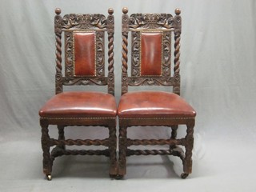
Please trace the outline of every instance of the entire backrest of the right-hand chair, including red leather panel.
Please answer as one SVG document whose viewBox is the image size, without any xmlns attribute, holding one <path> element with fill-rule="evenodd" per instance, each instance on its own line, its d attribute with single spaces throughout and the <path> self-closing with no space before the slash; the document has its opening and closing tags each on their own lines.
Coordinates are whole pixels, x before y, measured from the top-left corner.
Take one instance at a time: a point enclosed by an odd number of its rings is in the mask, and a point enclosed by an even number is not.
<svg viewBox="0 0 256 192">
<path fill-rule="evenodd" d="M 128 86 L 174 86 L 179 94 L 179 40 L 181 18 L 171 14 L 122 15 L 122 94 Z M 131 34 L 130 76 L 128 34 Z M 174 34 L 174 74 L 171 74 L 171 41 Z M 176 42 L 177 41 L 177 42 Z M 174 78 L 175 76 L 175 78 Z"/>
</svg>

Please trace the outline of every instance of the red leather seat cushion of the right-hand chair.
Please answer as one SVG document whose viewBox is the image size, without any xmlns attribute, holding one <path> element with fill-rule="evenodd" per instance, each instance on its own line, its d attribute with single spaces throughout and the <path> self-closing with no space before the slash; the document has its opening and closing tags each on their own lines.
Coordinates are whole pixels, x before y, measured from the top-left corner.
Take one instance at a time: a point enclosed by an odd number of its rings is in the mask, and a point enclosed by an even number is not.
<svg viewBox="0 0 256 192">
<path fill-rule="evenodd" d="M 195 110 L 178 94 L 138 91 L 122 95 L 119 118 L 194 118 Z"/>
</svg>

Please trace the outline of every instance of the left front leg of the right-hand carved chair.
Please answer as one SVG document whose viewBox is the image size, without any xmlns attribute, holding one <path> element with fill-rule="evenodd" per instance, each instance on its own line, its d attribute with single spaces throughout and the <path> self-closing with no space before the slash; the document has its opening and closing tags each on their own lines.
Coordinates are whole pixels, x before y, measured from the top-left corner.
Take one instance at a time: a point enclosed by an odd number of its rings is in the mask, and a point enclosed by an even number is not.
<svg viewBox="0 0 256 192">
<path fill-rule="evenodd" d="M 120 126 L 119 129 L 119 159 L 118 159 L 118 178 L 126 174 L 126 150 L 127 150 L 127 127 Z"/>
</svg>

